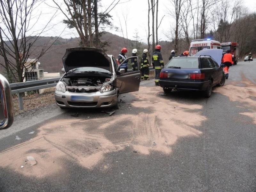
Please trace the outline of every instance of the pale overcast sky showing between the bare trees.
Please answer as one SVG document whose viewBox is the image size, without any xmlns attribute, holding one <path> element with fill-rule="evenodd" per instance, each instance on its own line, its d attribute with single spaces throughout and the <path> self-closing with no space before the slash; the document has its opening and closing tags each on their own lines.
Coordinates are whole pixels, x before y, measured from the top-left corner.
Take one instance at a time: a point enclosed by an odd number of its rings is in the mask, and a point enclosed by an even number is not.
<svg viewBox="0 0 256 192">
<path fill-rule="evenodd" d="M 128 1 L 128 2 L 127 2 Z M 232 0 L 231 0 L 232 1 Z M 45 1 L 48 5 L 53 5 L 52 0 L 46 0 Z M 60 4 L 63 4 L 63 1 L 59 0 Z M 112 0 L 102 0 L 102 9 L 105 9 L 109 6 L 109 4 L 112 2 Z M 122 36 L 121 28 L 120 28 L 120 22 L 123 23 L 123 29 L 125 30 L 124 25 L 124 18 L 123 15 L 127 14 L 127 33 L 129 39 L 134 39 L 134 32 L 135 29 L 138 29 L 139 36 L 142 39 L 142 41 L 147 41 L 147 35 L 146 35 L 146 29 L 148 28 L 148 1 L 147 0 L 121 0 L 121 2 L 126 2 L 122 4 L 116 5 L 116 7 L 110 12 L 110 15 L 113 17 L 113 24 L 117 27 L 119 27 L 118 31 L 115 31 L 114 29 L 107 28 L 106 31 L 109 31 L 113 34 Z M 244 5 L 248 7 L 249 12 L 255 12 L 256 10 L 256 0 L 244 0 Z M 36 28 L 41 28 L 44 23 L 46 23 L 49 18 L 51 17 L 52 13 L 54 12 L 54 9 L 49 7 L 47 4 L 42 4 L 40 6 L 38 12 L 42 12 L 42 18 L 43 20 L 40 20 L 40 22 L 37 22 Z M 170 3 L 170 0 L 159 0 L 159 13 L 158 13 L 158 20 L 160 22 L 160 19 L 164 16 L 164 19 L 162 21 L 162 24 L 158 30 L 158 39 L 162 40 L 168 40 L 168 38 L 164 35 L 170 31 L 170 26 L 173 24 L 174 20 L 173 18 L 168 14 L 169 10 L 172 9 L 172 5 Z M 77 37 L 76 30 L 71 30 L 66 28 L 66 25 L 62 23 L 62 20 L 65 17 L 62 15 L 61 12 L 57 12 L 56 16 L 51 22 L 51 28 L 47 32 L 45 32 L 44 36 L 58 36 L 60 33 L 62 37 L 64 38 L 70 38 L 70 37 Z M 63 31 L 64 30 L 64 31 Z M 62 32 L 63 31 L 63 32 Z M 126 34 L 125 34 L 126 35 Z"/>
</svg>

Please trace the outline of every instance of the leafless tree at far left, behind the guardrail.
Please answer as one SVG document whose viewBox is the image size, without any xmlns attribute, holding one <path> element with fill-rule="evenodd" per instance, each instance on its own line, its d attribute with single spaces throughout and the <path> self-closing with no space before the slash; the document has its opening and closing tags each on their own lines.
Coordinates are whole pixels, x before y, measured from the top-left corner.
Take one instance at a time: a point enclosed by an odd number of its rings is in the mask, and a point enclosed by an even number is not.
<svg viewBox="0 0 256 192">
<path fill-rule="evenodd" d="M 0 64 L 7 72 L 10 83 L 13 80 L 22 82 L 29 70 L 33 70 L 27 63 L 29 56 L 33 55 L 34 62 L 37 62 L 54 43 L 47 47 L 45 45 L 41 49 L 34 46 L 39 36 L 50 29 L 48 25 L 55 13 L 48 23 L 35 33 L 32 30 L 36 31 L 33 27 L 41 14 L 37 15 L 37 20 L 34 22 L 33 14 L 42 1 L 1 0 L 0 2 L 0 55 L 4 58 L 4 63 Z"/>
</svg>

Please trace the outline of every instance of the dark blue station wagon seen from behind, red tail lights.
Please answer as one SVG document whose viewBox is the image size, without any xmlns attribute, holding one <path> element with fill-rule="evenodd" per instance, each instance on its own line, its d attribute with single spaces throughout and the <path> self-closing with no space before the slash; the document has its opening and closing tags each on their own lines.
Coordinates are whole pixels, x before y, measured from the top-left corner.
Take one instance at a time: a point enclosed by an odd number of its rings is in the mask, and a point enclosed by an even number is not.
<svg viewBox="0 0 256 192">
<path fill-rule="evenodd" d="M 225 75 L 211 56 L 174 57 L 162 69 L 159 84 L 164 92 L 174 90 L 203 91 L 210 97 L 213 86 L 223 86 Z"/>
</svg>

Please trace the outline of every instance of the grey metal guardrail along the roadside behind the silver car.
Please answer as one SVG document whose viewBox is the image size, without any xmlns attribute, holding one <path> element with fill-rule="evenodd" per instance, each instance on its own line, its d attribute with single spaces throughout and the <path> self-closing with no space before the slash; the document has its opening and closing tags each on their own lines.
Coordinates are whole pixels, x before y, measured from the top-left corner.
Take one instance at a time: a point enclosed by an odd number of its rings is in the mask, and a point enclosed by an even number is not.
<svg viewBox="0 0 256 192">
<path fill-rule="evenodd" d="M 149 67 L 149 70 L 153 71 L 154 69 L 153 69 L 153 67 Z M 128 69 L 128 71 L 132 71 L 132 69 Z M 20 110 L 23 110 L 22 95 L 24 92 L 55 87 L 59 80 L 60 80 L 60 77 L 35 80 L 35 81 L 26 81 L 26 82 L 21 82 L 21 83 L 12 83 L 12 84 L 10 84 L 10 87 L 12 90 L 12 94 L 18 94 L 19 107 L 20 107 Z"/>
</svg>

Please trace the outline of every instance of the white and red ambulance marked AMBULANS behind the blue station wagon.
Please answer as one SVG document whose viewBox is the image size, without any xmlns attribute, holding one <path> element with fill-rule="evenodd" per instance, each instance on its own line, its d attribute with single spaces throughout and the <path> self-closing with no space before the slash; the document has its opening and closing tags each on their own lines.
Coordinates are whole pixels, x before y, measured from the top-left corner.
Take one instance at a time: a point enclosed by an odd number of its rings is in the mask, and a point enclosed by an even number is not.
<svg viewBox="0 0 256 192">
<path fill-rule="evenodd" d="M 197 52 L 205 49 L 222 49 L 219 41 L 212 39 L 195 39 L 191 41 L 189 56 L 196 55 Z"/>
</svg>

